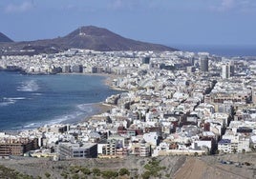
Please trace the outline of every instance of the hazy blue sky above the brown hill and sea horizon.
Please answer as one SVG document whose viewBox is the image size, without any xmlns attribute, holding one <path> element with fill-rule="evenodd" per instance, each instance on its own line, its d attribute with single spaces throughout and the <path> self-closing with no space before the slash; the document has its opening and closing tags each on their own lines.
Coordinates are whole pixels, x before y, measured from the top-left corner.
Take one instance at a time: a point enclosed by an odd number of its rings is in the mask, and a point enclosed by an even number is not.
<svg viewBox="0 0 256 179">
<path fill-rule="evenodd" d="M 97 26 L 165 45 L 256 45 L 256 0 L 1 0 L 14 41 Z"/>
</svg>

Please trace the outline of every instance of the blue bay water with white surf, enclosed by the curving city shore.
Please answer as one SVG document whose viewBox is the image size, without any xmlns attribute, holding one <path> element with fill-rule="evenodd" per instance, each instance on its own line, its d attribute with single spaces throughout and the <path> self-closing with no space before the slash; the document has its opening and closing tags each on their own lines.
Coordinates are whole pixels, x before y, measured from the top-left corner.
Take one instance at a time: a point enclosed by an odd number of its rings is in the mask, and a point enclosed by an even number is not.
<svg viewBox="0 0 256 179">
<path fill-rule="evenodd" d="M 0 71 L 0 130 L 76 123 L 98 112 L 95 104 L 119 91 L 105 77 L 83 74 L 24 75 Z"/>
</svg>

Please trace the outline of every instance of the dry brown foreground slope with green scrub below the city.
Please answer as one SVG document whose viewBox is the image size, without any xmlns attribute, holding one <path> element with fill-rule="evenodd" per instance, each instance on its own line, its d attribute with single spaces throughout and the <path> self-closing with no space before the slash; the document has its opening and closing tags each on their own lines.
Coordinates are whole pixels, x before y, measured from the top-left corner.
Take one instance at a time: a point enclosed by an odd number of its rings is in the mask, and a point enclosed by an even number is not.
<svg viewBox="0 0 256 179">
<path fill-rule="evenodd" d="M 256 178 L 256 154 L 131 156 L 57 162 L 19 157 L 0 160 L 0 178 Z"/>
</svg>

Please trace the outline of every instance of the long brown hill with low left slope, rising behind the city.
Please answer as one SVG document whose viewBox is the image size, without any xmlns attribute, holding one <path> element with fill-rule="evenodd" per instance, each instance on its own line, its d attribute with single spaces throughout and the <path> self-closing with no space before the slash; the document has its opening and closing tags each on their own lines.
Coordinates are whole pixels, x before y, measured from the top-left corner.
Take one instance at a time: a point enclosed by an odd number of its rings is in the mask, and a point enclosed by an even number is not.
<svg viewBox="0 0 256 179">
<path fill-rule="evenodd" d="M 16 43 L 6 43 L 0 45 L 0 48 L 7 50 L 9 53 L 52 53 L 68 49 L 86 49 L 86 50 L 158 50 L 158 51 L 173 51 L 176 49 L 128 39 L 114 33 L 110 30 L 97 28 L 95 26 L 80 27 L 64 37 L 53 39 L 44 39 L 36 41 L 25 41 Z"/>
</svg>

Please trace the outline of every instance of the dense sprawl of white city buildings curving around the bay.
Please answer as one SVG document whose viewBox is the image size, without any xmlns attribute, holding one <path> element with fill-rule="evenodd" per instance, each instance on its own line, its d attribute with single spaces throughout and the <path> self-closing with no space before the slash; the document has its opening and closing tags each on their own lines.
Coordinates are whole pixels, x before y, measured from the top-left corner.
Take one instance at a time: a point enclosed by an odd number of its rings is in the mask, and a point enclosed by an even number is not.
<svg viewBox="0 0 256 179">
<path fill-rule="evenodd" d="M 0 155 L 117 158 L 256 149 L 256 58 L 207 52 L 67 50 L 1 56 L 1 70 L 107 74 L 111 109 L 79 124 L 0 133 Z M 22 116 L 21 116 L 22 118 Z"/>
</svg>

